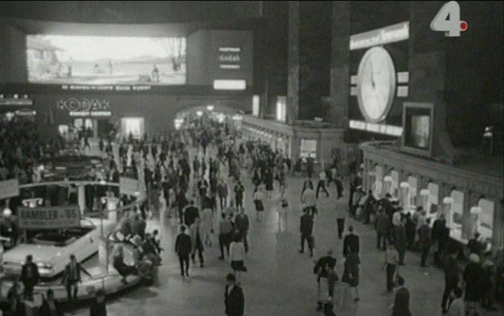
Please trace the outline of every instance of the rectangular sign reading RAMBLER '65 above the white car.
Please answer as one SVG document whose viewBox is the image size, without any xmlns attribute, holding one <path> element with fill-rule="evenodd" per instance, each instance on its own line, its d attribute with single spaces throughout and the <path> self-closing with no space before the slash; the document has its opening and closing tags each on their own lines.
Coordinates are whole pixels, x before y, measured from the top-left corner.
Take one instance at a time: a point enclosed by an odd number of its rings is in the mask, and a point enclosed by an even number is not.
<svg viewBox="0 0 504 316">
<path fill-rule="evenodd" d="M 63 229 L 80 227 L 78 206 L 49 208 L 18 208 L 19 227 L 22 229 Z"/>
</svg>

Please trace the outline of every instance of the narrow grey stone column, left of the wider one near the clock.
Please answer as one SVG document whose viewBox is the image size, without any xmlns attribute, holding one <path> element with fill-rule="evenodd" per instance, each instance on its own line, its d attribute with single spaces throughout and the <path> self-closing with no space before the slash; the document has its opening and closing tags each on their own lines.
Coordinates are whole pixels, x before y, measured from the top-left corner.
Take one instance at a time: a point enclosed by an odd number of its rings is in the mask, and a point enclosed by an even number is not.
<svg viewBox="0 0 504 316">
<path fill-rule="evenodd" d="M 287 123 L 299 115 L 301 1 L 288 2 Z"/>
</svg>

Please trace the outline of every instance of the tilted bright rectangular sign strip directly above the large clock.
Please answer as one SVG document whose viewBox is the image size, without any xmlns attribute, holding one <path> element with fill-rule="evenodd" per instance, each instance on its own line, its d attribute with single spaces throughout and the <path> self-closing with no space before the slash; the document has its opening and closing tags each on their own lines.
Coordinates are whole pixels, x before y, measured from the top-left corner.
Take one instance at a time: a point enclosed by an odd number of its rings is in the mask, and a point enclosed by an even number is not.
<svg viewBox="0 0 504 316">
<path fill-rule="evenodd" d="M 401 22 L 393 24 L 390 27 L 384 27 L 383 29 L 374 29 L 350 36 L 350 50 L 405 41 L 408 38 L 409 22 Z"/>
</svg>

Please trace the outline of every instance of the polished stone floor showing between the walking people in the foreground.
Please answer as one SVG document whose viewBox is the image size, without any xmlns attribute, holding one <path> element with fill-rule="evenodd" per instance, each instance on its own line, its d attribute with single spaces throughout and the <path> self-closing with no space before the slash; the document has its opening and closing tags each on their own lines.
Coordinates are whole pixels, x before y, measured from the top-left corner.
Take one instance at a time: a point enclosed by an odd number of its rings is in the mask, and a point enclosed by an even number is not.
<svg viewBox="0 0 504 316">
<path fill-rule="evenodd" d="M 251 218 L 249 240 L 251 251 L 246 259 L 248 273 L 241 277 L 244 289 L 246 316 L 316 316 L 322 315 L 316 307 L 316 276 L 313 274 L 314 259 L 308 254 L 299 254 L 300 191 L 302 178 L 288 178 L 288 201 L 290 208 L 286 227 L 277 225 L 276 206 L 278 193 L 267 201 L 267 210 L 262 222 L 255 222 L 252 203 L 251 180 L 246 178 L 246 209 Z M 336 201 L 335 187 L 330 187 L 330 198 L 318 201 L 320 213 L 315 220 L 316 257 L 332 247 L 337 254 L 336 271 L 343 272 L 342 240 L 337 238 L 335 207 L 346 208 L 344 200 Z M 345 194 L 348 193 L 346 189 Z M 324 196 L 324 195 L 322 195 Z M 215 218 L 218 224 L 217 217 Z M 385 272 L 381 269 L 383 252 L 375 247 L 374 230 L 351 219 L 360 236 L 360 301 L 351 302 L 351 308 L 335 310 L 339 316 L 386 316 L 393 294 L 385 290 Z M 224 315 L 225 275 L 231 272 L 226 261 L 218 259 L 218 240 L 204 253 L 206 266 L 191 266 L 190 278 L 181 278 L 179 263 L 174 254 L 174 238 L 177 225 L 174 220 L 152 220 L 148 230 L 159 227 L 162 235 L 163 265 L 159 270 L 159 284 L 141 287 L 126 293 L 120 299 L 110 301 L 109 315 L 112 316 L 219 316 Z M 411 292 L 411 310 L 414 316 L 441 315 L 443 284 L 442 271 L 435 267 L 421 268 L 419 254 L 408 253 L 407 266 L 401 267 L 406 286 Z M 78 310 L 74 315 L 88 315 L 87 310 Z M 502 315 L 486 313 L 483 315 Z"/>
</svg>

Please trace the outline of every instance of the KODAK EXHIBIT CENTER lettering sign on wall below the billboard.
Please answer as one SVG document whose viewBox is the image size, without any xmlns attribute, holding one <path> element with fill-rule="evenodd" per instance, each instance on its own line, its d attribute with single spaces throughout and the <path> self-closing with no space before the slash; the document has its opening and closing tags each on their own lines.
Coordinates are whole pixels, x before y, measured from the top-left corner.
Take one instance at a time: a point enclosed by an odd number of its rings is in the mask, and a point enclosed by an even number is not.
<svg viewBox="0 0 504 316">
<path fill-rule="evenodd" d="M 69 111 L 70 116 L 111 116 L 110 101 L 103 99 L 59 99 L 57 108 Z"/>
</svg>

